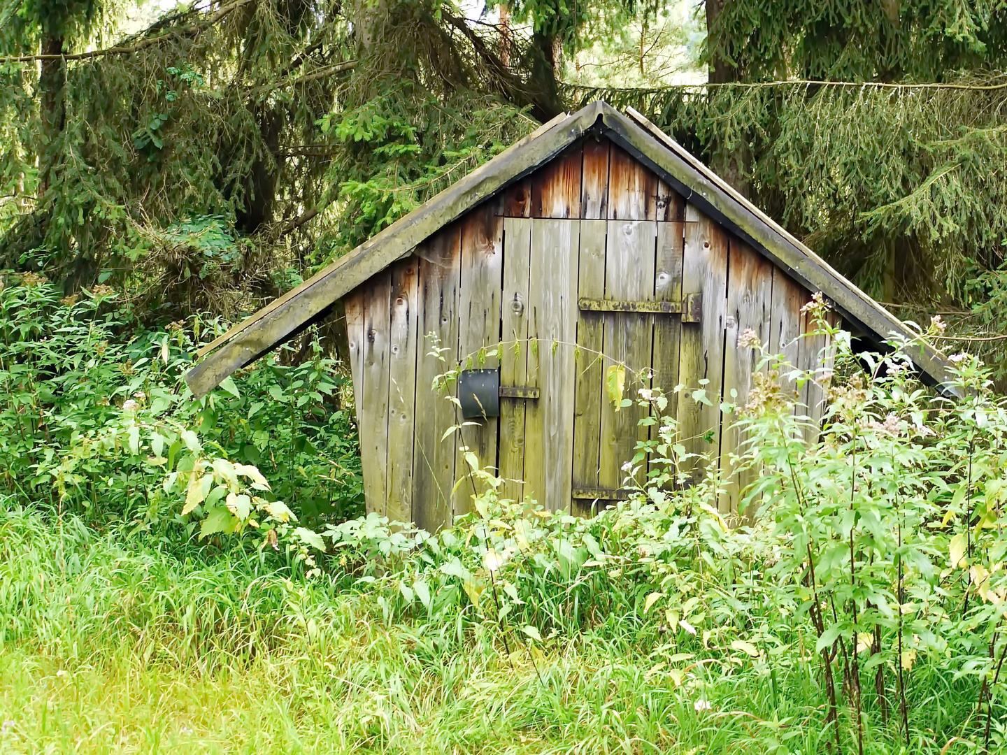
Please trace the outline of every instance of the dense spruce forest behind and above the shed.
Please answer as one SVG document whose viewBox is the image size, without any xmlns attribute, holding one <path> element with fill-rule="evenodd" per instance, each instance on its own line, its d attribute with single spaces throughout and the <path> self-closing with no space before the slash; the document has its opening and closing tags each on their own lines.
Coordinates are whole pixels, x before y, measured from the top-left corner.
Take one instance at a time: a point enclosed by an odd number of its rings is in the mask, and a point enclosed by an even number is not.
<svg viewBox="0 0 1007 755">
<path fill-rule="evenodd" d="M 1003 361 L 1000 3 L 3 0 L 0 19 L 0 267 L 112 286 L 148 325 L 255 309 L 602 98 Z"/>
</svg>

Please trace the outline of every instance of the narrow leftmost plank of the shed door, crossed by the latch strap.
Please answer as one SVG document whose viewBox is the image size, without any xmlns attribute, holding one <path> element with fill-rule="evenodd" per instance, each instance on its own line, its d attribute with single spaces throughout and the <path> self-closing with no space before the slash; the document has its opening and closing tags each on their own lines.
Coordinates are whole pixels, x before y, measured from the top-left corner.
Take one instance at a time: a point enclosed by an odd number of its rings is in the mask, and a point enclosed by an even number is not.
<svg viewBox="0 0 1007 755">
<path fill-rule="evenodd" d="M 531 245 L 531 220 L 503 219 L 501 386 L 529 385 L 528 269 Z M 524 495 L 526 406 L 525 401 L 500 399 L 499 476 L 505 479 L 500 495 L 512 500 L 521 500 Z"/>
</svg>

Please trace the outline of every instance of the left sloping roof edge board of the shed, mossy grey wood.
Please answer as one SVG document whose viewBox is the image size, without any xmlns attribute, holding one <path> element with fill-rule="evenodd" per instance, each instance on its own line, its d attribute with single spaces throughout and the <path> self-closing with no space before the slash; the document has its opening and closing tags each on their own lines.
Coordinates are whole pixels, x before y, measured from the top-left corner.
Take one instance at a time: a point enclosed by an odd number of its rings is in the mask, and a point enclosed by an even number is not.
<svg viewBox="0 0 1007 755">
<path fill-rule="evenodd" d="M 591 103 L 571 116 L 545 124 L 232 328 L 202 349 L 205 353 L 210 346 L 223 344 L 217 351 L 185 373 L 192 394 L 205 396 L 235 370 L 317 320 L 334 301 L 410 254 L 439 229 L 556 157 L 595 125 L 602 110 L 602 103 Z"/>
</svg>

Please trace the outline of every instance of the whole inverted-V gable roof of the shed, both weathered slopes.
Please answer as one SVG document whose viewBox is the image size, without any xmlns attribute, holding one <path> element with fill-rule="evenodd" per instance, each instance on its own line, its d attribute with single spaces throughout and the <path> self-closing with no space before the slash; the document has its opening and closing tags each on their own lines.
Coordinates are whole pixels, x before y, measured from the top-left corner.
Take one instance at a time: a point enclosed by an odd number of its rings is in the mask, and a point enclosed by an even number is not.
<svg viewBox="0 0 1007 755">
<path fill-rule="evenodd" d="M 740 238 L 810 291 L 821 291 L 843 318 L 882 345 L 893 335 L 916 339 L 896 317 L 837 273 L 822 258 L 745 199 L 631 108 L 627 115 L 595 102 L 561 115 L 516 142 L 439 194 L 239 323 L 196 356 L 185 374 L 196 397 L 237 369 L 326 317 L 345 294 L 466 211 L 558 156 L 589 132 L 604 135 L 639 160 L 701 212 Z M 911 358 L 923 379 L 946 393 L 949 363 L 917 340 Z M 214 350 L 215 349 L 215 350 Z M 210 353 L 212 352 L 212 353 Z"/>
</svg>

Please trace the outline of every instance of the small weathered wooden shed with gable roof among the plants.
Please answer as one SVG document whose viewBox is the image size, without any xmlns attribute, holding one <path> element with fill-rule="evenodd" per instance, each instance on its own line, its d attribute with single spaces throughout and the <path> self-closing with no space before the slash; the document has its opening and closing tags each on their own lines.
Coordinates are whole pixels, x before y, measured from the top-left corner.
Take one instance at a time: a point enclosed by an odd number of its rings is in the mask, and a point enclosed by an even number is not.
<svg viewBox="0 0 1007 755">
<path fill-rule="evenodd" d="M 739 439 L 719 403 L 743 403 L 755 368 L 737 339 L 751 328 L 813 366 L 826 344 L 801 337 L 801 309 L 814 292 L 870 341 L 908 335 L 642 116 L 594 103 L 236 326 L 186 380 L 206 394 L 341 298 L 369 510 L 434 530 L 469 509 L 458 440 L 443 438 L 456 409 L 431 388 L 460 364 L 486 370 L 466 373 L 462 393 L 491 415 L 463 428 L 464 445 L 508 479 L 508 495 L 580 511 L 622 495 L 621 465 L 641 432 L 639 410 L 607 398 L 607 365 L 650 370 L 669 396 L 687 386 L 670 409 L 683 442 L 729 474 Z M 914 359 L 925 380 L 945 381 L 940 353 Z M 701 387 L 710 406 L 691 398 Z M 802 399 L 820 416 L 820 386 Z M 736 507 L 742 484 L 723 508 Z"/>
</svg>

